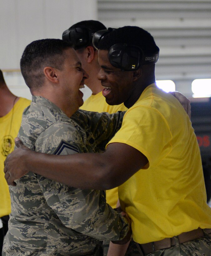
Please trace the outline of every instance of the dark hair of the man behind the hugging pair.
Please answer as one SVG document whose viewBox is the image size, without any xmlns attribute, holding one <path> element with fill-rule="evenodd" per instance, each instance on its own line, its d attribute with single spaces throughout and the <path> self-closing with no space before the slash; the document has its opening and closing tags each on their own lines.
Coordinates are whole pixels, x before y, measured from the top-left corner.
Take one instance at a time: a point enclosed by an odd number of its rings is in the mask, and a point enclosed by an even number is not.
<svg viewBox="0 0 211 256">
<path fill-rule="evenodd" d="M 101 23 L 100 21 L 97 20 L 84 20 L 84 21 L 80 21 L 75 23 L 74 25 L 72 25 L 70 28 L 73 27 L 86 27 L 88 29 L 90 29 L 93 33 L 99 31 L 99 30 L 103 30 L 103 29 L 107 29 L 105 25 L 103 25 L 103 23 Z M 92 40 L 89 43 L 89 46 L 93 46 L 92 44 Z M 83 47 L 81 49 L 79 49 L 79 51 L 83 51 L 86 47 Z"/>
</svg>

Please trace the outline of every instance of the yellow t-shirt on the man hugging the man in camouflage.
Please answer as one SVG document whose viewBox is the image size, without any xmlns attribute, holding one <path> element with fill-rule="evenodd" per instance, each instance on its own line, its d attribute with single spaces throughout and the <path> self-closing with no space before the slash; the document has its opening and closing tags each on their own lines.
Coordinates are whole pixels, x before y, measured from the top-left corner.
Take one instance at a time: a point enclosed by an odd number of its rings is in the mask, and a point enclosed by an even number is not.
<svg viewBox="0 0 211 256">
<path fill-rule="evenodd" d="M 122 209 L 140 244 L 193 229 L 211 228 L 199 145 L 188 115 L 174 96 L 148 86 L 109 142 L 125 143 L 149 160 L 119 187 Z"/>
</svg>

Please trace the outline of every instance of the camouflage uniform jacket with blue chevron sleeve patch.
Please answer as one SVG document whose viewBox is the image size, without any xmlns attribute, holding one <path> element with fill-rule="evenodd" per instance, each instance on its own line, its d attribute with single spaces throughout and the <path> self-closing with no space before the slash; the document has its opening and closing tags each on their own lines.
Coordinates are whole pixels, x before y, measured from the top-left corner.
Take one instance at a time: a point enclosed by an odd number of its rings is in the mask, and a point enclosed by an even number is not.
<svg viewBox="0 0 211 256">
<path fill-rule="evenodd" d="M 79 110 L 68 118 L 52 102 L 33 96 L 18 136 L 31 150 L 47 154 L 98 152 L 122 117 Z M 97 239 L 123 239 L 128 231 L 124 218 L 106 204 L 104 191 L 69 187 L 29 172 L 10 193 L 3 255 L 99 255 Z"/>
</svg>

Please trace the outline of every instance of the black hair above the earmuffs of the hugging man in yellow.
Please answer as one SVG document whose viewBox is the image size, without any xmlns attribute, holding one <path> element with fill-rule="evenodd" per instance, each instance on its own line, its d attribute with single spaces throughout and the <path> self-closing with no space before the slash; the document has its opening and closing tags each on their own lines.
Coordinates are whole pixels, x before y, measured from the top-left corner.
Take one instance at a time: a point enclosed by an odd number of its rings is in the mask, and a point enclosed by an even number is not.
<svg viewBox="0 0 211 256">
<path fill-rule="evenodd" d="M 144 53 L 155 53 L 158 49 L 151 34 L 143 28 L 135 26 L 113 29 L 99 41 L 98 49 L 109 50 L 111 46 L 118 43 L 138 46 Z"/>
</svg>

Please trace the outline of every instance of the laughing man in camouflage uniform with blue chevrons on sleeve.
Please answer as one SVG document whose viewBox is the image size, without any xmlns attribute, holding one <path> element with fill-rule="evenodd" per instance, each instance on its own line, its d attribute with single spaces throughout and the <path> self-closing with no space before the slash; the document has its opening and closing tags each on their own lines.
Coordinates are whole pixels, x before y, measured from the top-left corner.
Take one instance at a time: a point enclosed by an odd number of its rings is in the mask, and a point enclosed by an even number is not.
<svg viewBox="0 0 211 256">
<path fill-rule="evenodd" d="M 79 88 L 88 75 L 68 42 L 32 42 L 22 55 L 21 71 L 33 96 L 18 136 L 31 150 L 97 153 L 120 128 L 123 113 L 77 110 L 83 103 Z M 104 191 L 69 187 L 29 172 L 10 193 L 3 255 L 101 255 L 97 239 L 130 239 L 127 220 L 106 204 Z"/>
</svg>

